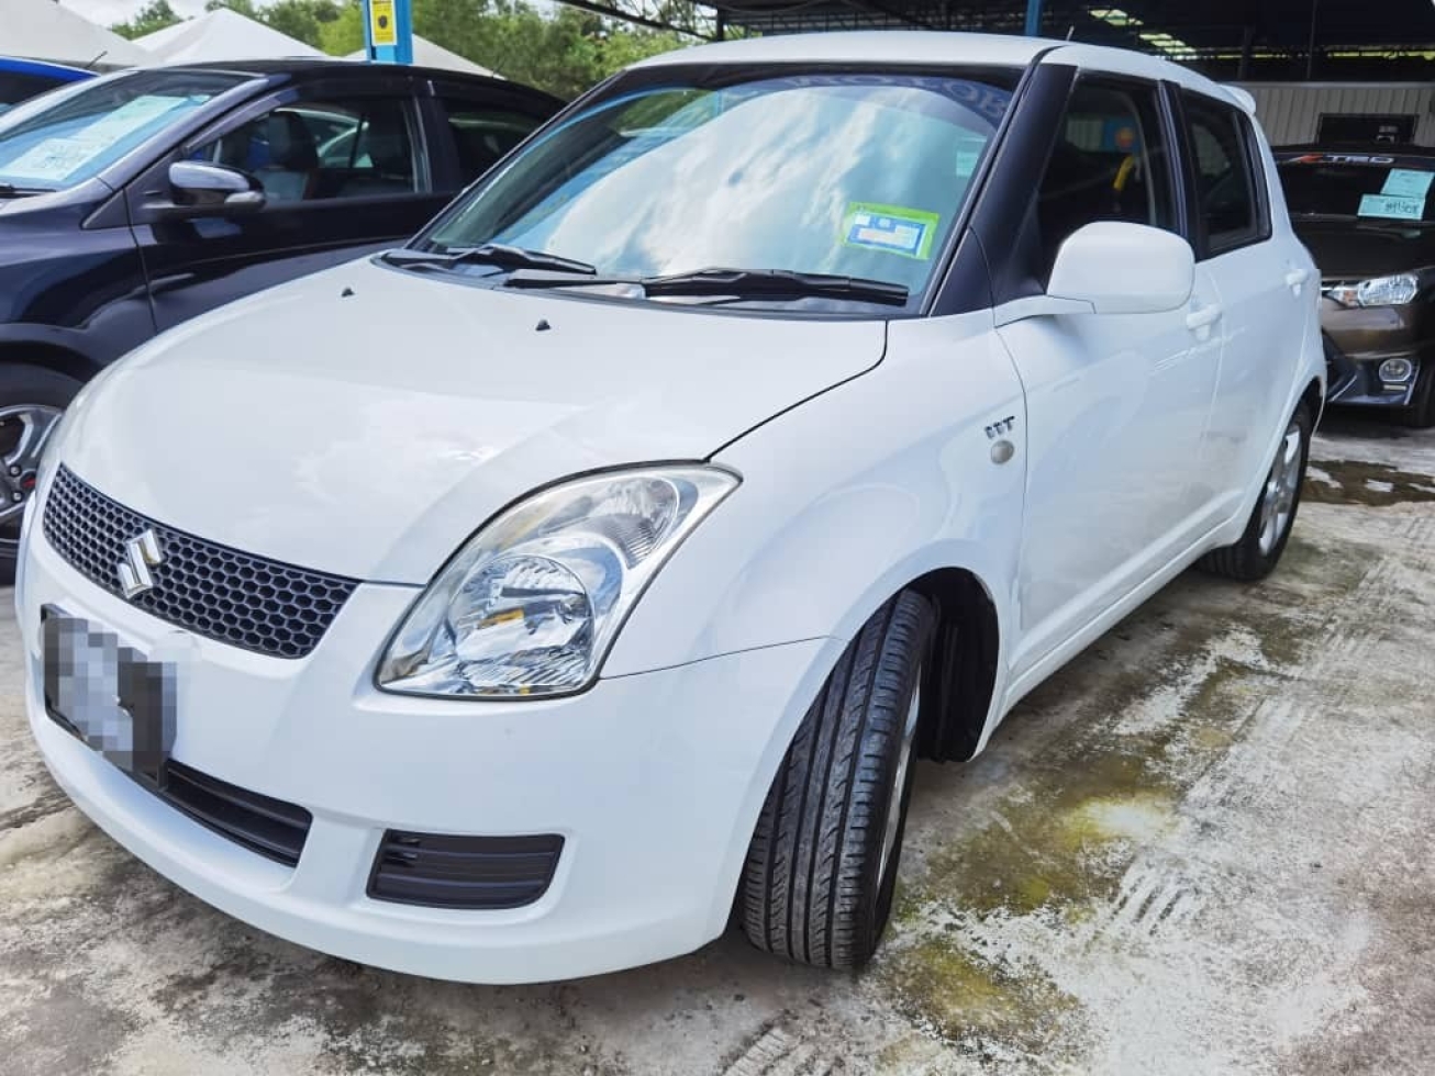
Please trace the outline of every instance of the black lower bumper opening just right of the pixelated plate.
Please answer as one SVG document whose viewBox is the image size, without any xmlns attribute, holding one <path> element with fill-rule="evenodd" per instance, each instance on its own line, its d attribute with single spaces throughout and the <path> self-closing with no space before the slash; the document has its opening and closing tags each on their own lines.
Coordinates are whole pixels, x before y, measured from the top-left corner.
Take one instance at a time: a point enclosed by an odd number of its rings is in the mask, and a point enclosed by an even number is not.
<svg viewBox="0 0 1435 1076">
<path fill-rule="evenodd" d="M 287 867 L 298 862 L 314 821 L 301 806 L 261 796 L 174 759 L 165 763 L 159 795 L 220 836 Z"/>
</svg>

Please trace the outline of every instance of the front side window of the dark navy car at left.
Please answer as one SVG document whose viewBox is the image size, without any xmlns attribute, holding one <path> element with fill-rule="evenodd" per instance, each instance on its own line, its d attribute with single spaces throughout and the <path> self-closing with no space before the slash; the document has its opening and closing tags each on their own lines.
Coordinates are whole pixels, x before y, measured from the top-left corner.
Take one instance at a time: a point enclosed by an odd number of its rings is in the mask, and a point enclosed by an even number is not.
<svg viewBox="0 0 1435 1076">
<path fill-rule="evenodd" d="M 205 143 L 191 159 L 254 176 L 271 204 L 413 194 L 408 102 L 293 100 Z"/>
</svg>

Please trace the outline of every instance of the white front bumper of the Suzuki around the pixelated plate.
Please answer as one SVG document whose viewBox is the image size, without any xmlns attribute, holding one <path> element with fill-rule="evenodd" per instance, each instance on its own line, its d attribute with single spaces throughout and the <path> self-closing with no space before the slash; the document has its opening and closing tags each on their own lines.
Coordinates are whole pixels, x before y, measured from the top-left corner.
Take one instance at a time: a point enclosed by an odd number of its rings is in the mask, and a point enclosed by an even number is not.
<svg viewBox="0 0 1435 1076">
<path fill-rule="evenodd" d="M 718 937 L 771 778 L 841 643 L 729 654 L 557 700 L 385 694 L 372 686 L 376 650 L 415 594 L 360 585 L 309 657 L 265 657 L 95 587 L 36 527 L 17 587 L 36 743 L 80 809 L 156 871 L 261 930 L 364 964 L 528 983 L 646 964 Z M 174 758 L 309 811 L 296 867 L 192 821 L 46 714 L 46 604 L 174 666 Z M 554 834 L 563 852 L 552 884 L 525 907 L 416 907 L 367 895 L 387 829 Z"/>
</svg>

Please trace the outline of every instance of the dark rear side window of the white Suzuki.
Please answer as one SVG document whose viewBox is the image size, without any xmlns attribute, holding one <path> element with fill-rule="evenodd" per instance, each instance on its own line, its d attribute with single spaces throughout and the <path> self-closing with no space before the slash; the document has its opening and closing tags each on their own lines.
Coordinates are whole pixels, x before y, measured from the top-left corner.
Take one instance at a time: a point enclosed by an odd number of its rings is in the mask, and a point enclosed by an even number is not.
<svg viewBox="0 0 1435 1076">
<path fill-rule="evenodd" d="M 1214 257 L 1266 238 L 1270 220 L 1258 195 L 1248 121 L 1210 98 L 1182 98 L 1205 253 Z"/>
</svg>

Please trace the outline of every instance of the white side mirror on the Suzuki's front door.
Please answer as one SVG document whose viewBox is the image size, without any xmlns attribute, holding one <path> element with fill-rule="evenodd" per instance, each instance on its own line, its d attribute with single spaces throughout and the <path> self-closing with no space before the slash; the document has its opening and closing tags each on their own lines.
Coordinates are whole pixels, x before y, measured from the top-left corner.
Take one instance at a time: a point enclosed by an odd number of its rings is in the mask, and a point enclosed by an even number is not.
<svg viewBox="0 0 1435 1076">
<path fill-rule="evenodd" d="M 1155 314 L 1185 306 L 1194 285 L 1195 255 L 1184 238 L 1145 224 L 1098 221 L 1062 244 L 1046 294 L 1098 314 Z"/>
</svg>

